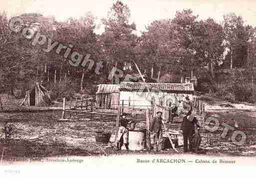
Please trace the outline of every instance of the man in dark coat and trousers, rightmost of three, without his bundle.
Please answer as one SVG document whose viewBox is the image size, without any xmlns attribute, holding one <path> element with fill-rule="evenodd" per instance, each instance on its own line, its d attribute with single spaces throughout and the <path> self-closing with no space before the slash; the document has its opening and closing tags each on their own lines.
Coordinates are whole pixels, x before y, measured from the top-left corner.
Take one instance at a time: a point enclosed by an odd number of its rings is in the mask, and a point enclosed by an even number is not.
<svg viewBox="0 0 256 179">
<path fill-rule="evenodd" d="M 199 129 L 200 129 L 200 126 L 199 126 L 198 120 L 194 117 L 194 113 L 191 109 L 188 112 L 188 114 L 183 118 L 183 122 L 181 126 L 181 130 L 183 131 L 183 139 L 184 139 L 184 152 L 188 152 L 188 140 L 189 140 L 189 150 L 193 151 L 193 146 L 192 146 L 193 135 L 197 134 L 197 136 L 199 136 Z"/>
</svg>

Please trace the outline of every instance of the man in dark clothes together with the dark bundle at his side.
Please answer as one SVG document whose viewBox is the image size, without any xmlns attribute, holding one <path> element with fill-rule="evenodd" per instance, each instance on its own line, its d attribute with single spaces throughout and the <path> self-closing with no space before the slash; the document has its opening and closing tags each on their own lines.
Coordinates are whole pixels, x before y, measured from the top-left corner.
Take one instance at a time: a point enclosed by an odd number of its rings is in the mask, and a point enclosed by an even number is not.
<svg viewBox="0 0 256 179">
<path fill-rule="evenodd" d="M 181 130 L 183 131 L 184 139 L 184 152 L 188 152 L 188 140 L 189 140 L 189 150 L 195 152 L 195 147 L 198 147 L 201 142 L 199 135 L 200 125 L 198 120 L 195 118 L 196 112 L 190 109 L 187 115 L 183 118 L 181 125 Z M 197 151 L 196 151 L 197 152 Z"/>
</svg>

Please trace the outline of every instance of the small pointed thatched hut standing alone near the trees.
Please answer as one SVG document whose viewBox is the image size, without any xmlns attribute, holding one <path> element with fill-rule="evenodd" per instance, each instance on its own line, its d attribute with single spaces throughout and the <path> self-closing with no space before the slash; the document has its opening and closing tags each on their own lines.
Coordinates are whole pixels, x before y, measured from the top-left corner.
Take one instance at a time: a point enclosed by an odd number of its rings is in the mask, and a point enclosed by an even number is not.
<svg viewBox="0 0 256 179">
<path fill-rule="evenodd" d="M 21 106 L 48 107 L 51 105 L 50 95 L 46 88 L 36 83 L 30 90 L 26 91 L 26 96 Z"/>
</svg>

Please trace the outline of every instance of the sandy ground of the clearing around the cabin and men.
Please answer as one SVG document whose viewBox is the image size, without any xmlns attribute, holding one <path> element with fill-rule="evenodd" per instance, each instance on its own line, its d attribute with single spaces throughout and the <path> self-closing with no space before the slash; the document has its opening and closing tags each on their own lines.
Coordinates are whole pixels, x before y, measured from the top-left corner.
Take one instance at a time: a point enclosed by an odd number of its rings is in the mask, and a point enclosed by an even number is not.
<svg viewBox="0 0 256 179">
<path fill-rule="evenodd" d="M 4 97 L 4 96 L 3 96 Z M 237 130 L 246 133 L 247 139 L 244 145 L 235 145 L 232 140 L 232 132 L 226 138 L 222 138 L 223 127 L 213 133 L 204 131 L 202 135 L 200 154 L 207 156 L 256 156 L 256 109 L 252 104 L 231 104 L 222 100 L 205 97 L 208 103 L 207 116 L 215 116 L 220 122 L 234 126 L 234 121 L 239 121 Z M 122 154 L 147 154 L 141 152 L 117 153 L 109 146 L 97 145 L 95 131 L 104 129 L 115 133 L 115 117 L 100 115 L 81 115 L 79 118 L 70 118 L 68 121 L 59 121 L 61 117 L 61 103 L 56 103 L 53 108 L 44 108 L 39 111 L 36 108 L 19 106 L 21 100 L 3 99 L 4 111 L 0 112 L 0 128 L 4 122 L 10 121 L 14 133 L 11 141 L 0 142 L 0 151 L 5 148 L 3 159 L 10 157 L 49 157 L 49 156 L 93 156 L 122 155 Z M 225 104 L 229 104 L 225 106 Z M 232 107 L 231 107 L 232 106 Z M 229 108 L 229 109 L 226 109 Z M 237 109 L 246 110 L 237 110 Z M 222 110 L 219 110 L 222 109 Z M 248 109 L 252 110 L 249 111 Z M 45 111 L 46 110 L 46 111 Z M 22 112 L 21 112 L 22 111 Z M 171 129 L 179 130 L 182 118 L 175 118 L 170 125 Z M 144 123 L 138 123 L 143 126 Z M 112 136 L 113 138 L 113 136 Z M 24 146 L 24 144 L 26 144 Z M 104 152 L 103 152 L 104 150 Z M 178 148 L 182 153 L 183 148 Z M 173 150 L 158 152 L 157 154 L 175 154 Z M 151 152 L 151 154 L 156 154 Z"/>
</svg>

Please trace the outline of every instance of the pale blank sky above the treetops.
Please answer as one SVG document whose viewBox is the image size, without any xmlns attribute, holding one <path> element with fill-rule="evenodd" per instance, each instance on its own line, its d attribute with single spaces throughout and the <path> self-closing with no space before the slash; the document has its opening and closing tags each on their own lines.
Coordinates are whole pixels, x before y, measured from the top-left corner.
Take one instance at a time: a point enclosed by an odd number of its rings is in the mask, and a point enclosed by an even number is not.
<svg viewBox="0 0 256 179">
<path fill-rule="evenodd" d="M 37 12 L 44 16 L 55 16 L 59 21 L 68 17 L 80 17 L 91 12 L 100 19 L 107 17 L 108 11 L 116 0 L 0 0 L 0 11 L 8 16 Z M 121 0 L 131 10 L 131 22 L 135 22 L 138 35 L 146 30 L 152 21 L 173 18 L 177 10 L 191 8 L 199 19 L 212 17 L 217 22 L 223 15 L 235 12 L 244 18 L 246 24 L 256 26 L 256 0 Z M 96 29 L 102 33 L 104 26 Z"/>
</svg>

